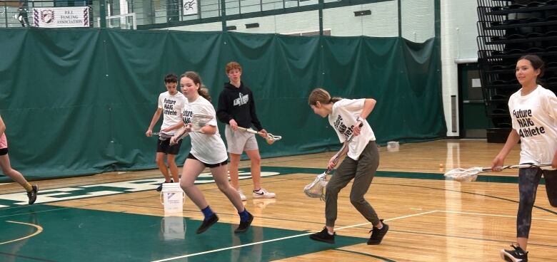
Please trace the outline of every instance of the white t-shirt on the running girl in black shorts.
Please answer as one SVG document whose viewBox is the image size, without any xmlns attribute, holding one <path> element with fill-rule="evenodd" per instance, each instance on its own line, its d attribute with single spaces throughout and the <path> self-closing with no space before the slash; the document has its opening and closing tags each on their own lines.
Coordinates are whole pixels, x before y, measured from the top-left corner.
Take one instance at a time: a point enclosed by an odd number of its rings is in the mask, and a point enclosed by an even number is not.
<svg viewBox="0 0 557 262">
<path fill-rule="evenodd" d="M 184 122 L 189 124 L 194 114 L 212 115 L 213 119 L 207 124 L 216 127 L 215 108 L 211 105 L 211 102 L 202 96 L 199 96 L 199 98 L 193 102 L 186 103 L 184 112 L 182 112 L 182 115 L 184 115 Z M 191 137 L 190 153 L 199 159 L 199 161 L 206 164 L 219 164 L 228 159 L 226 147 L 219 134 L 219 128 L 216 129 L 216 134 L 214 135 L 190 132 L 189 136 Z"/>
</svg>

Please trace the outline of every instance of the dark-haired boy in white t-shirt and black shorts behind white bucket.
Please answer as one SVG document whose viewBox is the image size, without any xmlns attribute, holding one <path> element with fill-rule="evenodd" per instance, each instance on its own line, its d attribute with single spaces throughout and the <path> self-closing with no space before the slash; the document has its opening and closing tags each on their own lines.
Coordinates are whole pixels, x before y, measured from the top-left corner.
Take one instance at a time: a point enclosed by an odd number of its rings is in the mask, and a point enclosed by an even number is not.
<svg viewBox="0 0 557 262">
<path fill-rule="evenodd" d="M 178 77 L 172 73 L 166 75 L 164 77 L 164 85 L 166 86 L 166 92 L 159 95 L 159 103 L 155 114 L 153 115 L 151 124 L 149 124 L 149 128 L 147 128 L 147 132 L 145 132 L 145 135 L 148 137 L 151 137 L 153 134 L 153 127 L 156 122 L 159 121 L 161 113 L 163 114 L 161 130 L 176 125 L 176 123 L 181 122 L 182 119 L 181 113 L 186 104 L 186 98 L 176 89 L 178 86 Z M 156 142 L 156 165 L 159 166 L 159 170 L 161 170 L 161 173 L 164 175 L 164 183 L 177 183 L 179 181 L 178 167 L 176 166 L 175 159 L 176 154 L 180 152 L 181 141 L 176 145 L 169 145 L 170 137 L 173 135 L 174 131 L 161 132 L 161 134 L 159 134 L 159 140 Z M 169 168 L 167 168 L 164 163 L 165 154 L 167 155 L 166 162 L 168 162 Z M 170 177 L 169 169 L 172 177 Z M 156 191 L 160 192 L 161 190 L 162 183 L 156 188 Z"/>
</svg>

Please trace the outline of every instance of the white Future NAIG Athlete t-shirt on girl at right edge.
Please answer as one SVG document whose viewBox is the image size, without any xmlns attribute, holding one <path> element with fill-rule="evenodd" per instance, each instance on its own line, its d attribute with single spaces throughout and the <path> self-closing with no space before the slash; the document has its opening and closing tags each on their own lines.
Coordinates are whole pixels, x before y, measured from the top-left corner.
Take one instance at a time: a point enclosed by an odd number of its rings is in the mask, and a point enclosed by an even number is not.
<svg viewBox="0 0 557 262">
<path fill-rule="evenodd" d="M 521 136 L 520 163 L 551 163 L 557 150 L 557 98 L 541 85 L 528 95 L 521 90 L 508 99 L 513 130 Z"/>
</svg>

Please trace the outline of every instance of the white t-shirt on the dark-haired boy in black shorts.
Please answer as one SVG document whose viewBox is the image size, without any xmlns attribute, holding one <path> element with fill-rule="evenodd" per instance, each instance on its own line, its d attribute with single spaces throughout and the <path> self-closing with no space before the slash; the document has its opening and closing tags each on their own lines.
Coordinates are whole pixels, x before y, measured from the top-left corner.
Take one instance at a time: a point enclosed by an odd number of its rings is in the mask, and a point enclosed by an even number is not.
<svg viewBox="0 0 557 262">
<path fill-rule="evenodd" d="M 176 125 L 182 120 L 182 110 L 184 110 L 184 105 L 186 104 L 186 97 L 180 92 L 176 92 L 174 95 L 170 95 L 169 91 L 161 93 L 159 95 L 159 105 L 158 108 L 162 109 L 163 112 L 163 123 L 161 125 L 161 130 L 166 127 L 171 127 Z M 168 132 L 169 135 L 174 135 L 176 130 Z"/>
</svg>

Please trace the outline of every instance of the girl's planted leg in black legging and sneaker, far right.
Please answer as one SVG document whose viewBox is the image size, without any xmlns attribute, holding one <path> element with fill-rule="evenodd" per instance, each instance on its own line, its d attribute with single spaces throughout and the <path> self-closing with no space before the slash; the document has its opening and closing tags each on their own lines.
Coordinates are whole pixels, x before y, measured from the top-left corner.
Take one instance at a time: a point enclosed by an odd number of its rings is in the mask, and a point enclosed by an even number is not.
<svg viewBox="0 0 557 262">
<path fill-rule="evenodd" d="M 516 216 L 516 242 L 513 250 L 501 250 L 501 258 L 511 261 L 528 260 L 528 235 L 532 223 L 532 209 L 536 201 L 536 193 L 541 178 L 541 169 L 538 167 L 521 168 L 518 170 L 518 214 Z"/>
</svg>

